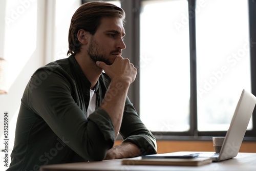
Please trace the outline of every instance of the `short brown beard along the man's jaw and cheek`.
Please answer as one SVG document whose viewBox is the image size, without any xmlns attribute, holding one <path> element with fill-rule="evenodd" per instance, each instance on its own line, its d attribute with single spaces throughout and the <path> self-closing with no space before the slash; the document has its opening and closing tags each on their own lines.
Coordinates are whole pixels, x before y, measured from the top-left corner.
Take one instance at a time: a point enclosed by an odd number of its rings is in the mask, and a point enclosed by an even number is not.
<svg viewBox="0 0 256 171">
<path fill-rule="evenodd" d="M 108 55 L 106 55 L 106 53 L 100 53 L 99 45 L 93 37 L 91 38 L 91 43 L 89 45 L 87 53 L 92 59 L 92 61 L 95 63 L 96 61 L 102 61 L 105 62 L 106 65 L 112 65 L 112 62 L 107 57 Z"/>
</svg>

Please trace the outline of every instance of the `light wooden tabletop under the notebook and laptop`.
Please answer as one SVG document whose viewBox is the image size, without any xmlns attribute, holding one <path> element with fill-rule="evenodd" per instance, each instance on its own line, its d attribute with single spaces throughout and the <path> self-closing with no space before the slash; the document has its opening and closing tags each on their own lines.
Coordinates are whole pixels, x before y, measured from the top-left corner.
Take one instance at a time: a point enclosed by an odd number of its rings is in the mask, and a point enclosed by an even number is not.
<svg viewBox="0 0 256 171">
<path fill-rule="evenodd" d="M 67 170 L 256 170 L 256 153 L 239 153 L 237 157 L 202 166 L 162 166 L 162 165 L 122 165 L 123 159 L 103 160 L 98 162 L 80 162 L 45 165 L 40 171 Z"/>
</svg>

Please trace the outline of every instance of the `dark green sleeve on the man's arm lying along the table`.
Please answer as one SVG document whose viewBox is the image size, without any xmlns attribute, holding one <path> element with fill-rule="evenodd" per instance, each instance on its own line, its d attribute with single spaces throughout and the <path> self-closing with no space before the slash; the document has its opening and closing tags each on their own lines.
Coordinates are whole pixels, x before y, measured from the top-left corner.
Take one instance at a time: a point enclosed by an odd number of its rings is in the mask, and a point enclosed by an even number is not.
<svg viewBox="0 0 256 171">
<path fill-rule="evenodd" d="M 143 124 L 128 97 L 126 98 L 123 120 L 119 133 L 123 137 L 124 142 L 132 142 L 136 144 L 140 148 L 142 155 L 157 153 L 156 138 Z"/>
</svg>

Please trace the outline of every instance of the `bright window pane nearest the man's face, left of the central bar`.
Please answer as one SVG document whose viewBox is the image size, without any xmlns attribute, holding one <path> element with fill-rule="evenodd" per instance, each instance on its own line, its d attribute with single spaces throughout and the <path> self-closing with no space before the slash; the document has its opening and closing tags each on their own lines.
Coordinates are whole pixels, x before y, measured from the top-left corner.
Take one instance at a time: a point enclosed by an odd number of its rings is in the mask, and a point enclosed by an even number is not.
<svg viewBox="0 0 256 171">
<path fill-rule="evenodd" d="M 140 116 L 151 131 L 189 130 L 189 32 L 175 25 L 187 8 L 186 0 L 141 3 Z"/>
</svg>

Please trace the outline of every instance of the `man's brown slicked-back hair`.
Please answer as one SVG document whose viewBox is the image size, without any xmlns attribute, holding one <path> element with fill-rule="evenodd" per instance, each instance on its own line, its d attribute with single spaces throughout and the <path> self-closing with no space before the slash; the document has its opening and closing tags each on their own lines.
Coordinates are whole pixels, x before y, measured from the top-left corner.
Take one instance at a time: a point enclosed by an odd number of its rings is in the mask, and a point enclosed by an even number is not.
<svg viewBox="0 0 256 171">
<path fill-rule="evenodd" d="M 69 54 L 80 52 L 80 42 L 77 32 L 80 29 L 92 35 L 97 31 L 102 17 L 119 17 L 124 24 L 125 13 L 123 9 L 106 2 L 89 2 L 81 5 L 71 18 L 69 28 Z"/>
</svg>

